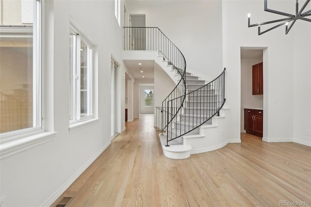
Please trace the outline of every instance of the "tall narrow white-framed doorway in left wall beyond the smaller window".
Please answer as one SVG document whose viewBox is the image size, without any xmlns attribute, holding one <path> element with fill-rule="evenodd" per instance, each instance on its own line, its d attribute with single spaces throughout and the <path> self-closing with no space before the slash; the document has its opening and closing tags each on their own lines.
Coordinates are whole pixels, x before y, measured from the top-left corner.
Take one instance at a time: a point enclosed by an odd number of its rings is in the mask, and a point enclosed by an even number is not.
<svg viewBox="0 0 311 207">
<path fill-rule="evenodd" d="M 118 65 L 111 60 L 111 138 L 118 134 Z"/>
</svg>

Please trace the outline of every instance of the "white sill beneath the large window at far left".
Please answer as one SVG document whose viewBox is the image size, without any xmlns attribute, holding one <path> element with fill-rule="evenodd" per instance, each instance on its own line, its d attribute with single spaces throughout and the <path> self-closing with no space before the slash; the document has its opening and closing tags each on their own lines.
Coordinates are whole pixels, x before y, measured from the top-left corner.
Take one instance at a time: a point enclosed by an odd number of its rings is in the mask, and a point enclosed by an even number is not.
<svg viewBox="0 0 311 207">
<path fill-rule="evenodd" d="M 0 159 L 23 152 L 55 138 L 56 132 L 44 132 L 0 144 Z"/>
</svg>

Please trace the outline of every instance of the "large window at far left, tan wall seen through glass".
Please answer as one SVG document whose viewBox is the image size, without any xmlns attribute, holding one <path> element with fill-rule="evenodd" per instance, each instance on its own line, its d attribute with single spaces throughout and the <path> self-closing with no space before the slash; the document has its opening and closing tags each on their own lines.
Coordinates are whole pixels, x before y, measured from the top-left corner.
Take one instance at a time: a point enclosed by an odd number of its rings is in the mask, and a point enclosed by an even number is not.
<svg viewBox="0 0 311 207">
<path fill-rule="evenodd" d="M 40 0 L 2 0 L 0 133 L 41 129 Z"/>
</svg>

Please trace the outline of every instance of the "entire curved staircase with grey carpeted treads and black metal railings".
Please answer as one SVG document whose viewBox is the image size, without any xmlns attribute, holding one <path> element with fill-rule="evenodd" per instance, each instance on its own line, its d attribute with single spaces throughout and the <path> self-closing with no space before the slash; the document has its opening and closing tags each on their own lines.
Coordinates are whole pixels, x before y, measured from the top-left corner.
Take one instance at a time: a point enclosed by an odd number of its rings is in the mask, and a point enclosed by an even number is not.
<svg viewBox="0 0 311 207">
<path fill-rule="evenodd" d="M 186 72 L 186 60 L 171 40 L 156 27 L 124 27 L 125 51 L 154 51 L 176 87 L 156 107 L 156 128 L 163 153 L 174 159 L 225 146 L 225 69 L 214 80 Z M 167 70 L 169 68 L 169 71 Z M 176 79 L 176 77 L 178 77 Z"/>
</svg>

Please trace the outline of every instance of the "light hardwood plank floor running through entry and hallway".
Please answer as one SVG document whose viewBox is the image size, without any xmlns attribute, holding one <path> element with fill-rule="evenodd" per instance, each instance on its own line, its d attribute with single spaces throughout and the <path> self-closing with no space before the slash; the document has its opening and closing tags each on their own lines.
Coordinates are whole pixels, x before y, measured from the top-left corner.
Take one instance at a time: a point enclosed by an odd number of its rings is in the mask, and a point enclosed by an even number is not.
<svg viewBox="0 0 311 207">
<path fill-rule="evenodd" d="M 157 134 L 153 115 L 127 122 L 52 206 L 71 196 L 70 207 L 311 206 L 311 147 L 241 134 L 242 143 L 174 160 Z"/>
</svg>

